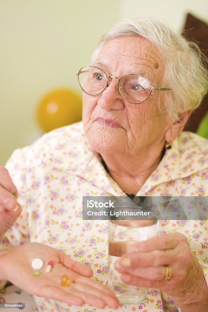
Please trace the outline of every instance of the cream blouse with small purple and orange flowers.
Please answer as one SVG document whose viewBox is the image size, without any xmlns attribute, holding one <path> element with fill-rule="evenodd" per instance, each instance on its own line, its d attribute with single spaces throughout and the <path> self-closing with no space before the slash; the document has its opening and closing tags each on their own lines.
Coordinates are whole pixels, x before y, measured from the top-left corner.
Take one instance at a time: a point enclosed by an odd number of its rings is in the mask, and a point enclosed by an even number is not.
<svg viewBox="0 0 208 312">
<path fill-rule="evenodd" d="M 207 196 L 208 141 L 182 132 L 165 152 L 157 169 L 137 196 Z M 31 146 L 16 150 L 7 168 L 19 191 L 23 212 L 2 241 L 3 248 L 37 241 L 63 250 L 90 266 L 93 278 L 107 286 L 108 221 L 83 221 L 82 196 L 125 196 L 105 171 L 83 133 L 82 122 L 43 135 Z M 206 221 L 161 221 L 158 234 L 181 232 L 208 280 L 208 224 Z M 39 311 L 97 312 L 58 300 L 35 297 Z M 116 311 L 116 310 L 115 310 Z M 139 305 L 120 305 L 120 312 L 178 312 L 172 298 L 149 289 Z"/>
</svg>

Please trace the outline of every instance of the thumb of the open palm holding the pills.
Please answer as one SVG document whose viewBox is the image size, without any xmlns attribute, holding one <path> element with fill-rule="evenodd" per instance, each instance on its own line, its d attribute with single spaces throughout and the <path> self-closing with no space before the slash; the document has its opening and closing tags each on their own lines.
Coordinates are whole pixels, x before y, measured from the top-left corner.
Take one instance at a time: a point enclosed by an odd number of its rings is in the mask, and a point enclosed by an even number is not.
<svg viewBox="0 0 208 312">
<path fill-rule="evenodd" d="M 84 263 L 72 260 L 70 256 L 67 256 L 64 252 L 61 252 L 61 260 L 62 264 L 76 273 L 79 273 L 80 275 L 84 275 L 87 277 L 90 277 L 93 275 L 93 271 L 89 266 L 86 266 Z"/>
</svg>

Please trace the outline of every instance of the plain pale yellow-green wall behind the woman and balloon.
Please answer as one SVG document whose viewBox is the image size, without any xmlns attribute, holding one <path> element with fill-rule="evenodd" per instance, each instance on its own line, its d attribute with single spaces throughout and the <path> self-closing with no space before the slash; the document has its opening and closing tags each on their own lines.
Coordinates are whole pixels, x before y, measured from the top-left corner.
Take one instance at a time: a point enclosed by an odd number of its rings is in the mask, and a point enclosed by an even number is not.
<svg viewBox="0 0 208 312">
<path fill-rule="evenodd" d="M 81 94 L 74 73 L 114 21 L 154 15 L 179 29 L 187 12 L 208 22 L 208 1 L 0 0 L 0 165 L 41 135 L 43 95 L 59 87 Z"/>
</svg>

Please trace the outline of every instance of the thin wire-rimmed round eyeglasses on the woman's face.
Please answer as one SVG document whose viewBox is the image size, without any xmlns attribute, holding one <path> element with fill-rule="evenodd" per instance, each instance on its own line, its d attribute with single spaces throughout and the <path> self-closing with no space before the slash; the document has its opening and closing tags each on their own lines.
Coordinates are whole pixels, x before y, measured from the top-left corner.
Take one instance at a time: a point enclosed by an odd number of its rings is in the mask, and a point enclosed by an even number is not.
<svg viewBox="0 0 208 312">
<path fill-rule="evenodd" d="M 169 88 L 152 87 L 150 81 L 136 74 L 122 77 L 108 76 L 106 72 L 96 66 L 82 67 L 78 72 L 78 80 L 82 90 L 88 95 L 99 95 L 109 86 L 109 78 L 118 79 L 119 92 L 127 102 L 140 104 L 148 99 L 153 90 L 172 90 Z"/>
</svg>

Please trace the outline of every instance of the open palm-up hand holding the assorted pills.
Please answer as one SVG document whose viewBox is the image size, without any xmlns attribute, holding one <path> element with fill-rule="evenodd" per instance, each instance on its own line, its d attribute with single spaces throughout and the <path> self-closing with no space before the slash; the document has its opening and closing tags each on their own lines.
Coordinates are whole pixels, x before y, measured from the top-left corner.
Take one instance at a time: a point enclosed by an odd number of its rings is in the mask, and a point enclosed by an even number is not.
<svg viewBox="0 0 208 312">
<path fill-rule="evenodd" d="M 40 258 L 44 266 L 34 275 L 31 261 Z M 53 261 L 51 272 L 46 272 L 49 261 Z M 104 308 L 108 305 L 117 308 L 115 295 L 104 285 L 90 276 L 92 270 L 74 261 L 63 251 L 40 243 L 27 243 L 20 247 L 0 251 L 0 279 L 10 280 L 31 295 L 64 301 L 72 305 L 89 305 Z M 62 286 L 62 275 L 70 278 L 69 286 Z"/>
</svg>

